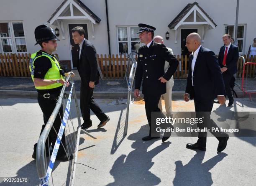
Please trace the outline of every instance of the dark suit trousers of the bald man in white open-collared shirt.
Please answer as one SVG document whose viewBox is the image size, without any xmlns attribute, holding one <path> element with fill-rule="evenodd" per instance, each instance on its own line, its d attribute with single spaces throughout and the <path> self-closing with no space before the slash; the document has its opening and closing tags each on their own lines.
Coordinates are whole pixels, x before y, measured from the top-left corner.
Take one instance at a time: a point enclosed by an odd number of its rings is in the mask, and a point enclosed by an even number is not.
<svg viewBox="0 0 256 186">
<path fill-rule="evenodd" d="M 197 123 L 197 127 L 198 128 L 207 127 L 207 129 L 210 129 L 210 132 L 212 133 L 212 135 L 214 135 L 218 140 L 220 140 L 221 132 L 211 131 L 212 127 L 215 127 L 215 128 L 218 127 L 216 123 L 210 118 L 212 107 L 213 107 L 213 101 L 214 99 L 212 99 L 209 102 L 194 101 L 196 117 L 197 118 L 203 117 L 203 122 Z M 220 131 L 219 127 L 218 129 Z M 198 145 L 202 147 L 206 147 L 206 135 L 207 135 L 207 132 L 198 132 L 198 140 L 197 140 Z"/>
</svg>

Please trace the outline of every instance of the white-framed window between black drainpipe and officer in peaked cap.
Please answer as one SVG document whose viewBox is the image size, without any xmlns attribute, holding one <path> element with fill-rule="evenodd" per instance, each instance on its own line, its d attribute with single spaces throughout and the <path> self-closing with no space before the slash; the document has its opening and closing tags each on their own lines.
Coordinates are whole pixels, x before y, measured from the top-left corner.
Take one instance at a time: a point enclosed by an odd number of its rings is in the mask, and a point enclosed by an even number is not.
<svg viewBox="0 0 256 186">
<path fill-rule="evenodd" d="M 118 54 L 138 54 L 138 49 L 141 47 L 141 41 L 138 37 L 138 26 L 118 26 Z"/>
</svg>

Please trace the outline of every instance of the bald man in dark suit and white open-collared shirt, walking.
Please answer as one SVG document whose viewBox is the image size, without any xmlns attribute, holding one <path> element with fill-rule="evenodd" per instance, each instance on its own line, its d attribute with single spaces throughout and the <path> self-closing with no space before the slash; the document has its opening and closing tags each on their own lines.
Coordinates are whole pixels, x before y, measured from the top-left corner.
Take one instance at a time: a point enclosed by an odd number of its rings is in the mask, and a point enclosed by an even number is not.
<svg viewBox="0 0 256 186">
<path fill-rule="evenodd" d="M 210 119 L 214 98 L 218 96 L 220 104 L 225 103 L 225 87 L 217 58 L 214 52 L 201 46 L 201 37 L 197 33 L 187 36 L 186 47 L 192 54 L 189 55 L 189 74 L 184 101 L 189 101 L 188 96 L 194 99 L 196 117 L 203 118 L 202 123 L 197 123 L 198 128 L 218 128 Z M 220 131 L 219 128 L 218 130 Z M 217 150 L 221 152 L 226 148 L 228 135 L 224 132 L 210 132 L 219 140 Z M 198 132 L 197 143 L 188 143 L 187 148 L 206 150 L 206 134 L 204 131 Z"/>
</svg>

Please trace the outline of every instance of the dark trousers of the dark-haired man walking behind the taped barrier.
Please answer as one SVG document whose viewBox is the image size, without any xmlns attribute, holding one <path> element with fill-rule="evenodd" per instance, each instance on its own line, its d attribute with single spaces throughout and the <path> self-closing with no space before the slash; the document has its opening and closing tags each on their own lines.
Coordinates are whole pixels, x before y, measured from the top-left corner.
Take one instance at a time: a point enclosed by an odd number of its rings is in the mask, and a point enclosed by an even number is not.
<svg viewBox="0 0 256 186">
<path fill-rule="evenodd" d="M 93 89 L 88 86 L 84 86 L 81 82 L 81 92 L 80 92 L 80 108 L 82 112 L 82 117 L 84 123 L 91 122 L 90 119 L 90 109 L 100 121 L 107 119 L 107 115 L 100 109 L 99 105 L 95 102 L 92 97 Z"/>
</svg>

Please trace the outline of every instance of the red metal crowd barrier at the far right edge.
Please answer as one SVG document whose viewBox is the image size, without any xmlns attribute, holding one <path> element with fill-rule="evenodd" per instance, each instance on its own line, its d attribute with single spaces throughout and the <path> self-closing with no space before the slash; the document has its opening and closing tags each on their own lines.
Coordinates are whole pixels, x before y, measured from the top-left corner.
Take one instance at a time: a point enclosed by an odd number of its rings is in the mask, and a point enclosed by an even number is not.
<svg viewBox="0 0 256 186">
<path fill-rule="evenodd" d="M 251 68 L 251 71 L 249 70 L 249 68 Z M 256 70 L 256 63 L 246 62 L 245 64 L 243 64 L 241 89 L 244 94 L 249 95 L 249 98 L 251 101 L 252 101 L 251 94 L 256 94 L 256 82 L 255 82 L 255 79 L 253 79 L 253 76 L 256 74 L 255 70 Z"/>
</svg>

